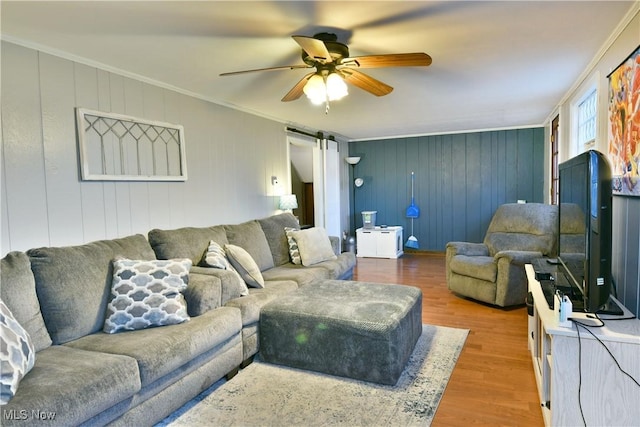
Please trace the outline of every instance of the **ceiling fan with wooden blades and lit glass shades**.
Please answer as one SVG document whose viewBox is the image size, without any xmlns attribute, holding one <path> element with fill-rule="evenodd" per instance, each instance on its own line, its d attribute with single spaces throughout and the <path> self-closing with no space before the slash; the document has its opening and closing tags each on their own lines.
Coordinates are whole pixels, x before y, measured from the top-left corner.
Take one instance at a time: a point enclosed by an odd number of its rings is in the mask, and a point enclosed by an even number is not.
<svg viewBox="0 0 640 427">
<path fill-rule="evenodd" d="M 316 71 L 307 74 L 296 83 L 282 101 L 294 101 L 305 93 L 314 103 L 326 102 L 328 109 L 329 101 L 340 99 L 347 94 L 347 86 L 344 82 L 376 96 L 391 93 L 393 90 L 391 86 L 358 71 L 359 68 L 425 67 L 431 64 L 431 57 L 422 52 L 349 57 L 349 47 L 340 43 L 333 33 L 318 33 L 313 37 L 292 36 L 292 38 L 302 48 L 304 64 L 234 71 L 222 73 L 220 76 L 256 71 L 315 68 Z"/>
</svg>

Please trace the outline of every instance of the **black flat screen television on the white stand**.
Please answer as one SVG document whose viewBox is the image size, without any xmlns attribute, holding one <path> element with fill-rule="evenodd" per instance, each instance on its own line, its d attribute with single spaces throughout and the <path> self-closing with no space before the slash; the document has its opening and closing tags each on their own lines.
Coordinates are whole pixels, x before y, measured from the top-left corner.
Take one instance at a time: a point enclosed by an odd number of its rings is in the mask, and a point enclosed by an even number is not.
<svg viewBox="0 0 640 427">
<path fill-rule="evenodd" d="M 558 277 L 573 311 L 621 314 L 610 299 L 611 167 L 595 150 L 559 165 Z M 570 289 L 569 289 L 570 286 Z"/>
</svg>

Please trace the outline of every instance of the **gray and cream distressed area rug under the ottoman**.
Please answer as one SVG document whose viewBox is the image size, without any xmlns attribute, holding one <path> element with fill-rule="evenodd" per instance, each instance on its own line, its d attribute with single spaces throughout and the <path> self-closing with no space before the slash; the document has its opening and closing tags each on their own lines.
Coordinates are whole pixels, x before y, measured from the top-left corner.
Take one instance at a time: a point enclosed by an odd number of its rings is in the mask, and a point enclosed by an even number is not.
<svg viewBox="0 0 640 427">
<path fill-rule="evenodd" d="M 468 332 L 423 325 L 394 386 L 273 365 L 258 357 L 157 426 L 427 426 Z"/>
</svg>

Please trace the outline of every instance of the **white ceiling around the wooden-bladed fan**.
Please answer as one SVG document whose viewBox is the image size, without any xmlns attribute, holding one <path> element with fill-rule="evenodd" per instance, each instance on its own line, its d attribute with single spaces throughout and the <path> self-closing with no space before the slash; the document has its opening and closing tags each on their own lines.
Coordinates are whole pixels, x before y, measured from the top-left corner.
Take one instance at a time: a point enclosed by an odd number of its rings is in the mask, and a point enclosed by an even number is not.
<svg viewBox="0 0 640 427">
<path fill-rule="evenodd" d="M 2 37 L 347 139 L 538 126 L 631 1 L 2 1 Z M 291 35 L 335 32 L 351 56 L 426 52 L 429 67 L 363 70 L 324 107 L 280 99 L 308 70 Z"/>
</svg>

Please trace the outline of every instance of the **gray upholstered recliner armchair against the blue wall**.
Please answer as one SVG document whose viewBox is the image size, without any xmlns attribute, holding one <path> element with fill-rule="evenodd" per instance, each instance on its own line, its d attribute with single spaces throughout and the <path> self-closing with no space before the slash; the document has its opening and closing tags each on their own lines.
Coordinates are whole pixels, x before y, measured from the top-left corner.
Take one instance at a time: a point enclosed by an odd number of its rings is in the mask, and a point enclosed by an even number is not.
<svg viewBox="0 0 640 427">
<path fill-rule="evenodd" d="M 449 242 L 449 289 L 500 307 L 524 304 L 525 264 L 556 251 L 558 209 L 542 203 L 500 206 L 483 243 Z"/>
</svg>

